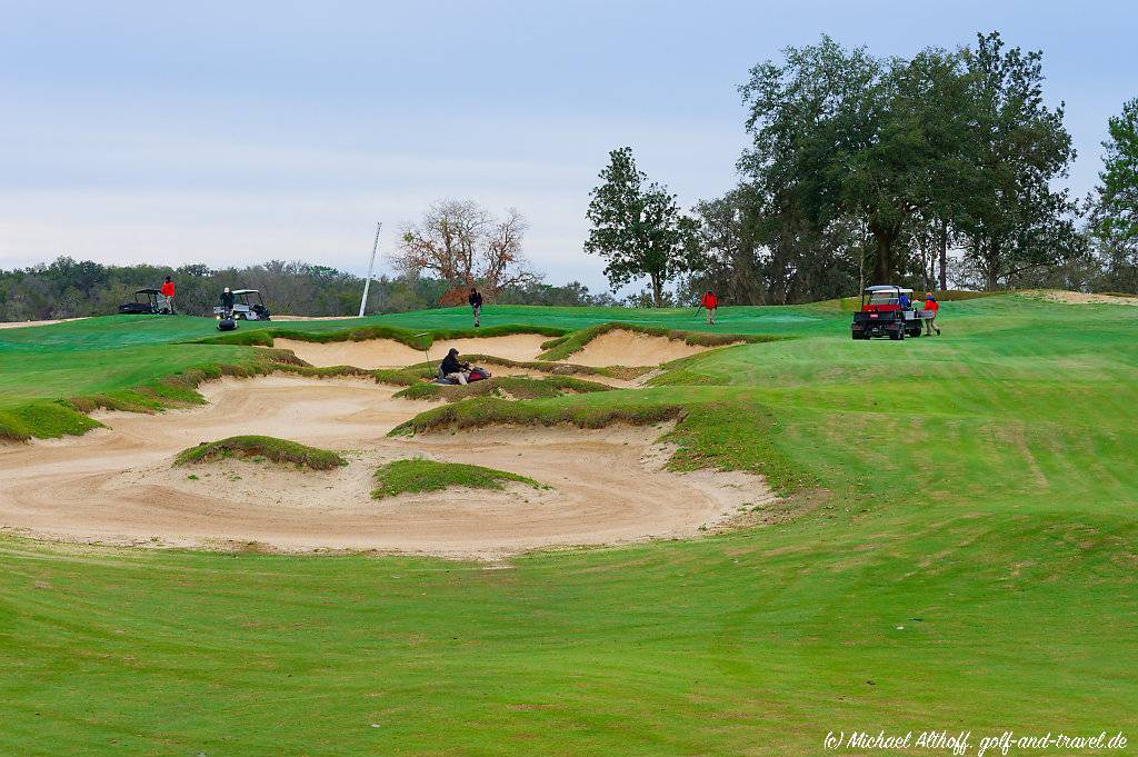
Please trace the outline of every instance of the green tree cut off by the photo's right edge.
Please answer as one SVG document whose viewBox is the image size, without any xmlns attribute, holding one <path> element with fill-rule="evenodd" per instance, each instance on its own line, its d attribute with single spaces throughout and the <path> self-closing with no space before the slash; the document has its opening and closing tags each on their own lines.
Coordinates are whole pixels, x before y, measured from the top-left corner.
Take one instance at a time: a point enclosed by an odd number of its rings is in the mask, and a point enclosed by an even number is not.
<svg viewBox="0 0 1138 757">
<path fill-rule="evenodd" d="M 1103 171 L 1088 198 L 1089 232 L 1105 269 L 1102 287 L 1138 291 L 1138 98 L 1108 123 Z"/>
</svg>

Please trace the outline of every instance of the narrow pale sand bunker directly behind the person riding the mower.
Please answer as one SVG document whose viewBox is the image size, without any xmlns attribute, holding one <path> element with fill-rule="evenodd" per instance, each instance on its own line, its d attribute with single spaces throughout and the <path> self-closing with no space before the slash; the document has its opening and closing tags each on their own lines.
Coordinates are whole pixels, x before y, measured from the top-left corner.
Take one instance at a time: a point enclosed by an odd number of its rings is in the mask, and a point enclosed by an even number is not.
<svg viewBox="0 0 1138 757">
<path fill-rule="evenodd" d="M 549 337 L 537 334 L 514 334 L 505 337 L 483 339 L 436 339 L 430 348 L 431 360 L 442 360 L 451 347 L 462 354 L 494 355 L 506 360 L 534 360 L 542 352 L 542 343 Z M 291 349 L 297 357 L 318 367 L 355 365 L 363 369 L 403 368 L 427 360 L 422 351 L 413 349 L 395 339 L 368 339 L 364 342 L 300 342 L 297 339 L 273 339 L 273 346 Z"/>
</svg>

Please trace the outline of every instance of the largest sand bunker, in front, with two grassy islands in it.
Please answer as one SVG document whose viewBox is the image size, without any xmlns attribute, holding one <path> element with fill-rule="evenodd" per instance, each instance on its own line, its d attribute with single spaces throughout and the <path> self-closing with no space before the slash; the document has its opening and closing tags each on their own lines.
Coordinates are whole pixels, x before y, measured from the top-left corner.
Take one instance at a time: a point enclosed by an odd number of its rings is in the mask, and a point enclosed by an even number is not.
<svg viewBox="0 0 1138 757">
<path fill-rule="evenodd" d="M 523 550 L 690 536 L 770 500 L 761 479 L 660 469 L 659 429 L 484 429 L 389 439 L 429 406 L 371 381 L 272 376 L 200 389 L 205 408 L 101 413 L 112 426 L 61 442 L 0 447 L 0 526 L 113 544 L 307 551 L 379 550 L 497 558 Z M 267 434 L 348 451 L 347 468 L 298 472 L 229 461 L 171 468 L 200 441 Z M 373 501 L 382 461 L 422 454 L 553 486 Z M 197 480 L 188 478 L 192 474 Z"/>
</svg>

